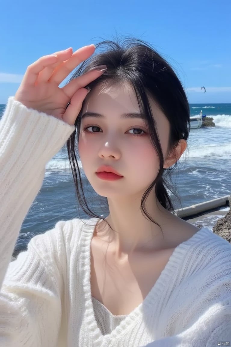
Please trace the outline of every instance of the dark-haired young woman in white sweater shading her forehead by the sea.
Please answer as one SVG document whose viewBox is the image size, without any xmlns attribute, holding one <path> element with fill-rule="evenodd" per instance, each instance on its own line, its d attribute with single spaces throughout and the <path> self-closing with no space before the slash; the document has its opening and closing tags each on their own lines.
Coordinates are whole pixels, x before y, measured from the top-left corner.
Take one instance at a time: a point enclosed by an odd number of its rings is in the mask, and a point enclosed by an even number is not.
<svg viewBox="0 0 231 347">
<path fill-rule="evenodd" d="M 0 346 L 231 342 L 231 246 L 172 213 L 166 190 L 187 148 L 184 89 L 149 45 L 105 44 L 38 59 L 1 119 Z M 93 218 L 58 222 L 10 263 L 45 164 L 66 141 Z M 107 198 L 105 219 L 88 209 L 78 154 Z"/>
</svg>

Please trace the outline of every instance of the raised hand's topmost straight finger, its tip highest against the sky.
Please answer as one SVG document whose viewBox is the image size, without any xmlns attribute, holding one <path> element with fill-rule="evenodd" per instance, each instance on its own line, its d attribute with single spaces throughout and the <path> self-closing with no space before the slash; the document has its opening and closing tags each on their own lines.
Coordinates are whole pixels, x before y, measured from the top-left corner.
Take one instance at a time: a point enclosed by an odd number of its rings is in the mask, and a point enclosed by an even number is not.
<svg viewBox="0 0 231 347">
<path fill-rule="evenodd" d="M 95 46 L 85 46 L 75 51 L 71 58 L 64 61 L 59 68 L 54 71 L 50 78 L 51 82 L 55 82 L 58 85 L 76 68 L 82 61 L 88 59 L 95 51 Z"/>
</svg>

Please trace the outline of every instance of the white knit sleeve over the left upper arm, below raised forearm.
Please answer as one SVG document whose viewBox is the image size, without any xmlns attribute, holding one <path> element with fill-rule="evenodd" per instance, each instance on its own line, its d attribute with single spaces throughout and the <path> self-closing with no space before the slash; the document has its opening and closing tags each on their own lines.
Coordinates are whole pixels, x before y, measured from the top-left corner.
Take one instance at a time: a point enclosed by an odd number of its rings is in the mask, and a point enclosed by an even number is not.
<svg viewBox="0 0 231 347">
<path fill-rule="evenodd" d="M 1 347 L 55 347 L 62 316 L 65 222 L 33 237 L 9 264 L 0 292 Z"/>
</svg>

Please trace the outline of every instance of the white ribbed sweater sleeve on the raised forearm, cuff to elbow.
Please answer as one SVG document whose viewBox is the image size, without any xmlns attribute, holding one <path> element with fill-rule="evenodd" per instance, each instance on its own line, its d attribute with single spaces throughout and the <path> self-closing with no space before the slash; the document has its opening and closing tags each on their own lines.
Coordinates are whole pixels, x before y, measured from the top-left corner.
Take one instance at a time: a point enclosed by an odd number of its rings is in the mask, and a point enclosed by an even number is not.
<svg viewBox="0 0 231 347">
<path fill-rule="evenodd" d="M 9 99 L 0 121 L 0 288 L 23 220 L 42 186 L 45 165 L 73 130 Z"/>
</svg>

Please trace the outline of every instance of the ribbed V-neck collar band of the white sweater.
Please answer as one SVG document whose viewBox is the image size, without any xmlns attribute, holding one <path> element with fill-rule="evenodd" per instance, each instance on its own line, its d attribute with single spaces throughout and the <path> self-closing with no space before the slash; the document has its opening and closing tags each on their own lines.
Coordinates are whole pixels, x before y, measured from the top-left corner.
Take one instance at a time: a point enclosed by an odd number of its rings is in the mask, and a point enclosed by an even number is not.
<svg viewBox="0 0 231 347">
<path fill-rule="evenodd" d="M 107 335 L 103 335 L 97 325 L 94 307 L 91 299 L 91 240 L 94 234 L 94 229 L 96 223 L 100 219 L 91 218 L 85 220 L 82 223 L 81 230 L 81 241 L 80 241 L 80 251 L 81 259 L 83 261 L 82 266 L 82 278 L 83 278 L 83 292 L 85 299 L 85 313 L 83 319 L 87 324 L 89 335 L 92 339 L 92 346 L 108 346 L 110 341 L 121 336 L 126 332 L 127 329 L 134 324 L 137 319 L 142 319 L 142 313 L 146 308 L 153 307 L 160 301 L 163 291 L 171 285 L 174 281 L 172 280 L 177 272 L 177 269 L 181 265 L 185 254 L 187 253 L 190 246 L 195 242 L 201 240 L 205 237 L 204 233 L 207 235 L 212 234 L 207 228 L 202 228 L 198 230 L 191 238 L 179 244 L 171 254 L 165 268 L 162 270 L 160 276 L 158 277 L 156 283 L 149 291 L 148 295 L 144 298 L 143 302 L 139 304 L 131 313 L 126 315 L 125 319 L 117 325 L 117 327 Z"/>
</svg>

